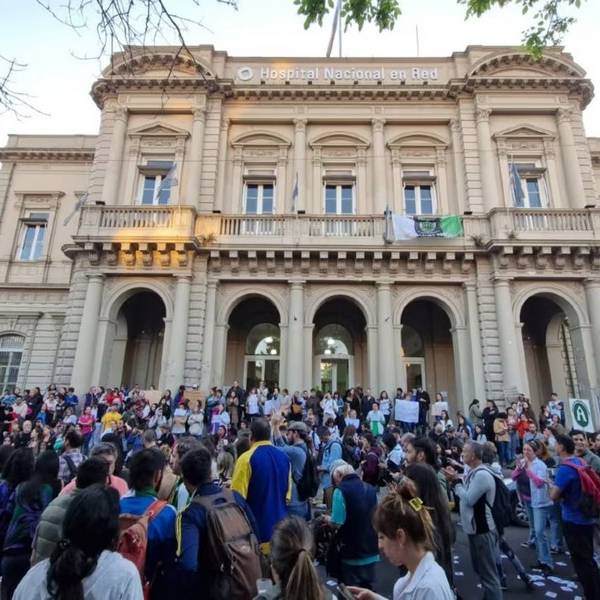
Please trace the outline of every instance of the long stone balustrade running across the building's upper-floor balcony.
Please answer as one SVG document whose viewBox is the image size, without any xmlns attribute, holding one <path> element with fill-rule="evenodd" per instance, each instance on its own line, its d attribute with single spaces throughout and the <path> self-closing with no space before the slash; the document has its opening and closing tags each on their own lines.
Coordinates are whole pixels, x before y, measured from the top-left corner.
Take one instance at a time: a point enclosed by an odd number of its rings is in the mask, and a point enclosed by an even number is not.
<svg viewBox="0 0 600 600">
<path fill-rule="evenodd" d="M 504 242 L 600 240 L 599 209 L 498 208 L 487 216 L 463 217 L 464 236 L 454 240 L 411 240 L 423 246 L 481 246 Z M 203 244 L 352 245 L 384 244 L 383 215 L 216 215 L 191 206 L 86 206 L 77 237 L 92 240 L 176 240 L 196 237 Z M 546 242 L 547 240 L 547 242 Z"/>
</svg>

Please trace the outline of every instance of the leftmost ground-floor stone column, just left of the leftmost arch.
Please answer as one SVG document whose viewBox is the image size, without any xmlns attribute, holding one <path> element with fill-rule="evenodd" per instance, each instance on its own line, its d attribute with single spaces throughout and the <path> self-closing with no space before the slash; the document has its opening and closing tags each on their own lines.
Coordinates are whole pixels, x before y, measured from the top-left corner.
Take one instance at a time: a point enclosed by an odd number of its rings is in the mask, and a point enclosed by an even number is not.
<svg viewBox="0 0 600 600">
<path fill-rule="evenodd" d="M 77 349 L 73 362 L 73 375 L 71 376 L 71 385 L 75 388 L 77 394 L 85 394 L 92 385 L 91 377 L 95 359 L 94 350 L 96 348 L 98 316 L 104 289 L 104 275 L 88 275 L 88 279 Z"/>
</svg>

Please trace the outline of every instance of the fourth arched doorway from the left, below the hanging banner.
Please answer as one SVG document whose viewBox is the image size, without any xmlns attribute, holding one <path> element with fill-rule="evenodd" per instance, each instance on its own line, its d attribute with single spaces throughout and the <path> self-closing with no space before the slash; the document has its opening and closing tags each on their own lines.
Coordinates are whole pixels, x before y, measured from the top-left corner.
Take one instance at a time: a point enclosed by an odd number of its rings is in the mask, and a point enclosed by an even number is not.
<svg viewBox="0 0 600 600">
<path fill-rule="evenodd" d="M 456 400 L 452 324 L 431 300 L 413 300 L 402 311 L 401 368 L 408 391 L 426 389 Z"/>
</svg>

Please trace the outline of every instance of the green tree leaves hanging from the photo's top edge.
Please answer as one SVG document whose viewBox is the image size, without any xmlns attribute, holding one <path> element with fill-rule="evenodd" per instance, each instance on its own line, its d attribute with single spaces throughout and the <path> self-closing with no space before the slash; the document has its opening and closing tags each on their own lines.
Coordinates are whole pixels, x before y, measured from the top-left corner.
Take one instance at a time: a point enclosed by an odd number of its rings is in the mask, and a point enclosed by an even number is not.
<svg viewBox="0 0 600 600">
<path fill-rule="evenodd" d="M 540 57 L 545 46 L 559 44 L 575 17 L 570 9 L 581 7 L 585 0 L 457 0 L 466 6 L 466 18 L 481 17 L 494 7 L 509 4 L 521 8 L 524 15 L 531 15 L 532 24 L 523 32 L 523 43 L 535 56 Z M 335 8 L 335 0 L 294 0 L 298 13 L 304 16 L 304 27 L 322 25 L 323 19 Z M 393 29 L 400 17 L 399 0 L 342 0 L 342 19 L 345 27 L 356 25 L 362 29 L 365 23 L 379 28 Z"/>
</svg>

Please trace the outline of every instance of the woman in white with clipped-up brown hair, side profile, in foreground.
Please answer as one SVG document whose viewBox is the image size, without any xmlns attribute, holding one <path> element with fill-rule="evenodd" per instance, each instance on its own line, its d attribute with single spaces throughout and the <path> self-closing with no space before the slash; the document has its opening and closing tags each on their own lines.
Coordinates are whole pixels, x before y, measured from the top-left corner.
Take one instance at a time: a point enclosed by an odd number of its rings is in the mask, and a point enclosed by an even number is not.
<svg viewBox="0 0 600 600">
<path fill-rule="evenodd" d="M 415 484 L 405 478 L 377 507 L 373 525 L 379 549 L 408 573 L 394 585 L 393 600 L 454 600 L 446 574 L 435 562 L 434 525 Z M 384 600 L 374 592 L 348 587 L 357 600 Z"/>
</svg>

